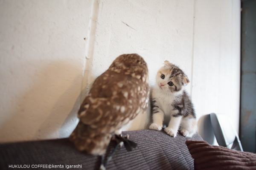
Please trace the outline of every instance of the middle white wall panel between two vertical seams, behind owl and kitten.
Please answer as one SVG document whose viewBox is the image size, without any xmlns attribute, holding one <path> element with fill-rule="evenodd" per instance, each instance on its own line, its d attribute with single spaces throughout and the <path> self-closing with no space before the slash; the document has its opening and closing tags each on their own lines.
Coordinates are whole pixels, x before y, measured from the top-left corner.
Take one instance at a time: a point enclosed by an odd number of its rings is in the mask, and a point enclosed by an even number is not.
<svg viewBox="0 0 256 170">
<path fill-rule="evenodd" d="M 101 0 L 98 6 L 93 57 L 87 61 L 92 63 L 88 83 L 126 53 L 145 59 L 151 86 L 165 60 L 180 65 L 191 77 L 193 1 Z M 146 128 L 150 119 L 149 114 L 140 114 L 123 130 Z"/>
</svg>

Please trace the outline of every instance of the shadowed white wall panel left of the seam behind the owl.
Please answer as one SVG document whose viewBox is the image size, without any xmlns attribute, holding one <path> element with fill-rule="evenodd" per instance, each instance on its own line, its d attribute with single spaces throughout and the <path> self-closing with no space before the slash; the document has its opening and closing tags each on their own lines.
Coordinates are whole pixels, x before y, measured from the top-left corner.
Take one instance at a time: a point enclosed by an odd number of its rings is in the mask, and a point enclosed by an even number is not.
<svg viewBox="0 0 256 170">
<path fill-rule="evenodd" d="M 91 2 L 0 1 L 0 142 L 76 126 Z"/>
</svg>

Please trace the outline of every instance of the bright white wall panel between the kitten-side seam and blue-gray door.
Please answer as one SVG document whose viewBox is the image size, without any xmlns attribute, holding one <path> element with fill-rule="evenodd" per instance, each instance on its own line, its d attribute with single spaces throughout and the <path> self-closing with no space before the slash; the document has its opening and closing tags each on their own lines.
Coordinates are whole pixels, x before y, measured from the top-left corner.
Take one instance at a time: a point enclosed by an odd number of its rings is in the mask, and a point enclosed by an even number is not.
<svg viewBox="0 0 256 170">
<path fill-rule="evenodd" d="M 209 113 L 227 114 L 239 132 L 240 3 L 195 1 L 192 100 L 203 137 L 209 126 L 202 116 Z"/>
</svg>

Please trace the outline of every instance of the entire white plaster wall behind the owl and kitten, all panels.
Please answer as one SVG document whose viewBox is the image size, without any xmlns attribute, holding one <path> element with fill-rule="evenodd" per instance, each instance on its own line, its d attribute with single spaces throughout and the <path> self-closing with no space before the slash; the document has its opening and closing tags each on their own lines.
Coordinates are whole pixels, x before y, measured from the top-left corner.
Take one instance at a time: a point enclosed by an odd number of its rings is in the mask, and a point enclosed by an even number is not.
<svg viewBox="0 0 256 170">
<path fill-rule="evenodd" d="M 164 60 L 179 65 L 198 119 L 229 111 L 238 129 L 239 0 L 1 0 L 0 22 L 0 142 L 69 136 L 90 84 L 124 53 L 144 57 L 151 86 Z"/>
</svg>

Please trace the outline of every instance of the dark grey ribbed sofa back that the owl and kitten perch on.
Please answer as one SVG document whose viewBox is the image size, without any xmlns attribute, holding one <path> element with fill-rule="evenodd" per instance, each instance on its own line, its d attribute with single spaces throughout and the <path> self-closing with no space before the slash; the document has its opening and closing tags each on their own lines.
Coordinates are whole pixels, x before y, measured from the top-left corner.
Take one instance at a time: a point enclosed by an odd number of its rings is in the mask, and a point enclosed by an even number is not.
<svg viewBox="0 0 256 170">
<path fill-rule="evenodd" d="M 131 152 L 124 146 L 118 148 L 108 162 L 107 170 L 193 170 L 194 160 L 185 142 L 188 139 L 202 140 L 198 133 L 192 138 L 180 134 L 173 138 L 156 130 L 125 131 L 122 134 L 129 134 L 129 139 L 138 146 Z M 108 152 L 114 146 L 115 142 L 111 142 Z M 77 151 L 67 138 L 0 144 L 0 169 L 7 170 L 9 165 L 17 164 L 30 165 L 30 169 L 33 164 L 81 165 L 83 170 L 94 170 L 99 168 L 100 156 Z"/>
</svg>

